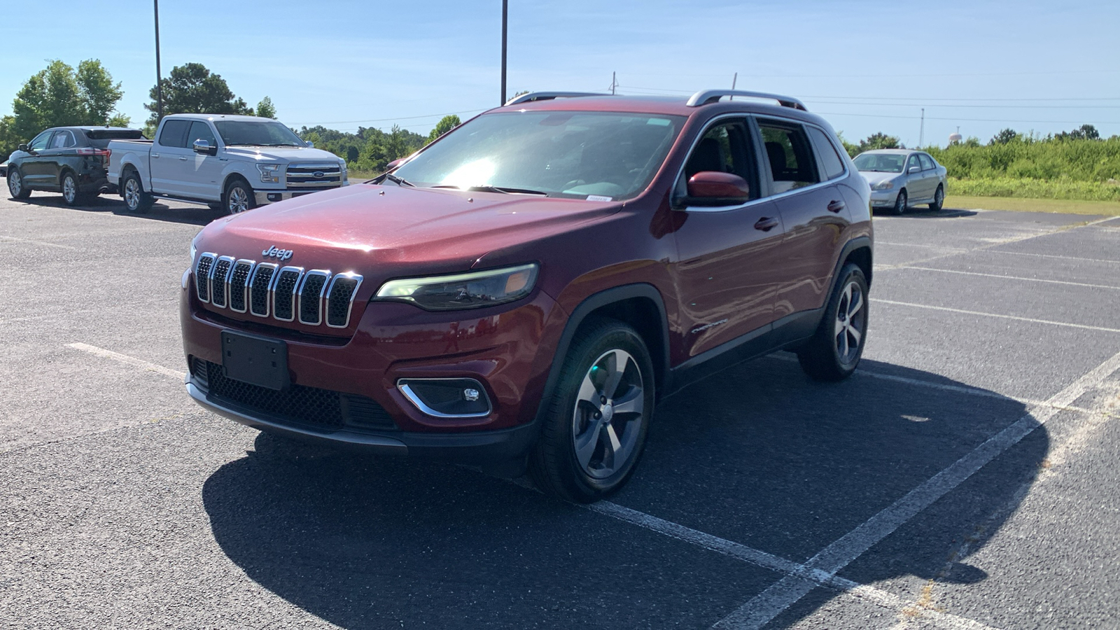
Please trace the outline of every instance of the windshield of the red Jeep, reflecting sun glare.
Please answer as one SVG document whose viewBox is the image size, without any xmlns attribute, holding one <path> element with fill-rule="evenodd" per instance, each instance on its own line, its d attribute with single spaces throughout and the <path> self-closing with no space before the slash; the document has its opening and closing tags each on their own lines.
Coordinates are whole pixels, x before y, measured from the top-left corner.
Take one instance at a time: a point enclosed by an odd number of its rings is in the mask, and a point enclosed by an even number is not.
<svg viewBox="0 0 1120 630">
<path fill-rule="evenodd" d="M 625 200 L 650 185 L 683 122 L 614 112 L 489 113 L 393 173 L 420 187 Z"/>
</svg>

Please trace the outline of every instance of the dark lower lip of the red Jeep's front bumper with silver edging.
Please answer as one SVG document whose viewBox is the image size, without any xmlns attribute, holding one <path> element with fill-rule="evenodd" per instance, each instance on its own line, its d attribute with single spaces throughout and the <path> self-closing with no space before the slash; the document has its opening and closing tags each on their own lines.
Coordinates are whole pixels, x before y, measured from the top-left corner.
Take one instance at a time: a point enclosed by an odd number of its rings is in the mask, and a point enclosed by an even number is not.
<svg viewBox="0 0 1120 630">
<path fill-rule="evenodd" d="M 428 457 L 464 464 L 493 464 L 525 455 L 536 441 L 536 423 L 513 428 L 473 433 L 426 434 L 411 432 L 315 430 L 254 415 L 236 405 L 214 400 L 190 377 L 187 393 L 203 408 L 220 416 L 287 437 L 343 445 L 376 455 Z"/>
</svg>

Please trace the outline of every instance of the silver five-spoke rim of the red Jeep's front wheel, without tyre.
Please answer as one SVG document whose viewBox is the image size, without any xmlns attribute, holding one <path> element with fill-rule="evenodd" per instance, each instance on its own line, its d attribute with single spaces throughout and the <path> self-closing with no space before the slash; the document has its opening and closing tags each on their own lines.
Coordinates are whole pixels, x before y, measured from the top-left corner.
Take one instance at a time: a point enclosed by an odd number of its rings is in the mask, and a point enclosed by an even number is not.
<svg viewBox="0 0 1120 630">
<path fill-rule="evenodd" d="M 584 376 L 572 411 L 572 446 L 584 472 L 606 479 L 624 470 L 642 434 L 645 389 L 625 350 L 603 353 Z"/>
</svg>

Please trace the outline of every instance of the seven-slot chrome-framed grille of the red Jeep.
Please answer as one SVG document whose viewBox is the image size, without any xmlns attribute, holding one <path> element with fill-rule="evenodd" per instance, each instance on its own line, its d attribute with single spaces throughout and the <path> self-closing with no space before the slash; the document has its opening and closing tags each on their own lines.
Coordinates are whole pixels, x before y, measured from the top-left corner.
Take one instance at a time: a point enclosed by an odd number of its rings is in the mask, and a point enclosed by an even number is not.
<svg viewBox="0 0 1120 630">
<path fill-rule="evenodd" d="M 278 268 L 272 262 L 236 260 L 205 252 L 195 263 L 195 296 L 214 308 L 246 311 L 256 317 L 299 321 L 332 328 L 349 325 L 354 296 L 362 286 L 357 274 L 329 269 Z"/>
</svg>

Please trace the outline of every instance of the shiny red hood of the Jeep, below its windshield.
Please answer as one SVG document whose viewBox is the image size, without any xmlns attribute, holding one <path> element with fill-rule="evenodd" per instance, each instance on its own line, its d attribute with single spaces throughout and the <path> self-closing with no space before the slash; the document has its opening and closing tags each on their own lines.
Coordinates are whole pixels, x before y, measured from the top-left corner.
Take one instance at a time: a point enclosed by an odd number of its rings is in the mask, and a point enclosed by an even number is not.
<svg viewBox="0 0 1120 630">
<path fill-rule="evenodd" d="M 619 202 L 356 184 L 214 221 L 199 251 L 366 278 L 469 269 L 482 256 L 608 216 Z"/>
</svg>

